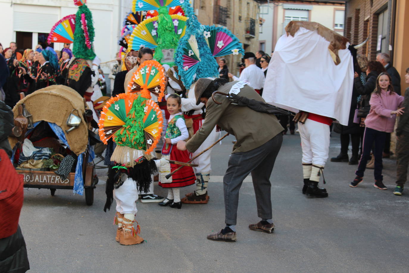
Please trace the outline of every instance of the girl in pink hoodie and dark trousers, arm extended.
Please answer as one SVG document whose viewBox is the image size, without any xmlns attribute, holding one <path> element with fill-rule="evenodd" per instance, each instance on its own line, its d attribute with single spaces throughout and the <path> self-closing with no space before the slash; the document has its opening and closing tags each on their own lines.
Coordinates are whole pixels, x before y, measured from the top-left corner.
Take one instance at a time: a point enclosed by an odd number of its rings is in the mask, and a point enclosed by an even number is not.
<svg viewBox="0 0 409 273">
<path fill-rule="evenodd" d="M 371 110 L 365 119 L 365 132 L 362 147 L 362 156 L 355 171 L 356 177 L 349 185 L 356 187 L 362 182 L 366 168 L 366 162 L 369 160 L 372 144 L 374 143 L 373 154 L 375 156 L 375 188 L 387 190 L 383 184 L 382 176 L 382 151 L 385 145 L 387 133 L 393 132 L 395 126 L 396 114 L 404 113 L 402 107 L 404 97 L 393 92 L 391 76 L 387 72 L 382 72 L 376 79 L 376 88 L 371 95 L 369 104 Z"/>
</svg>

